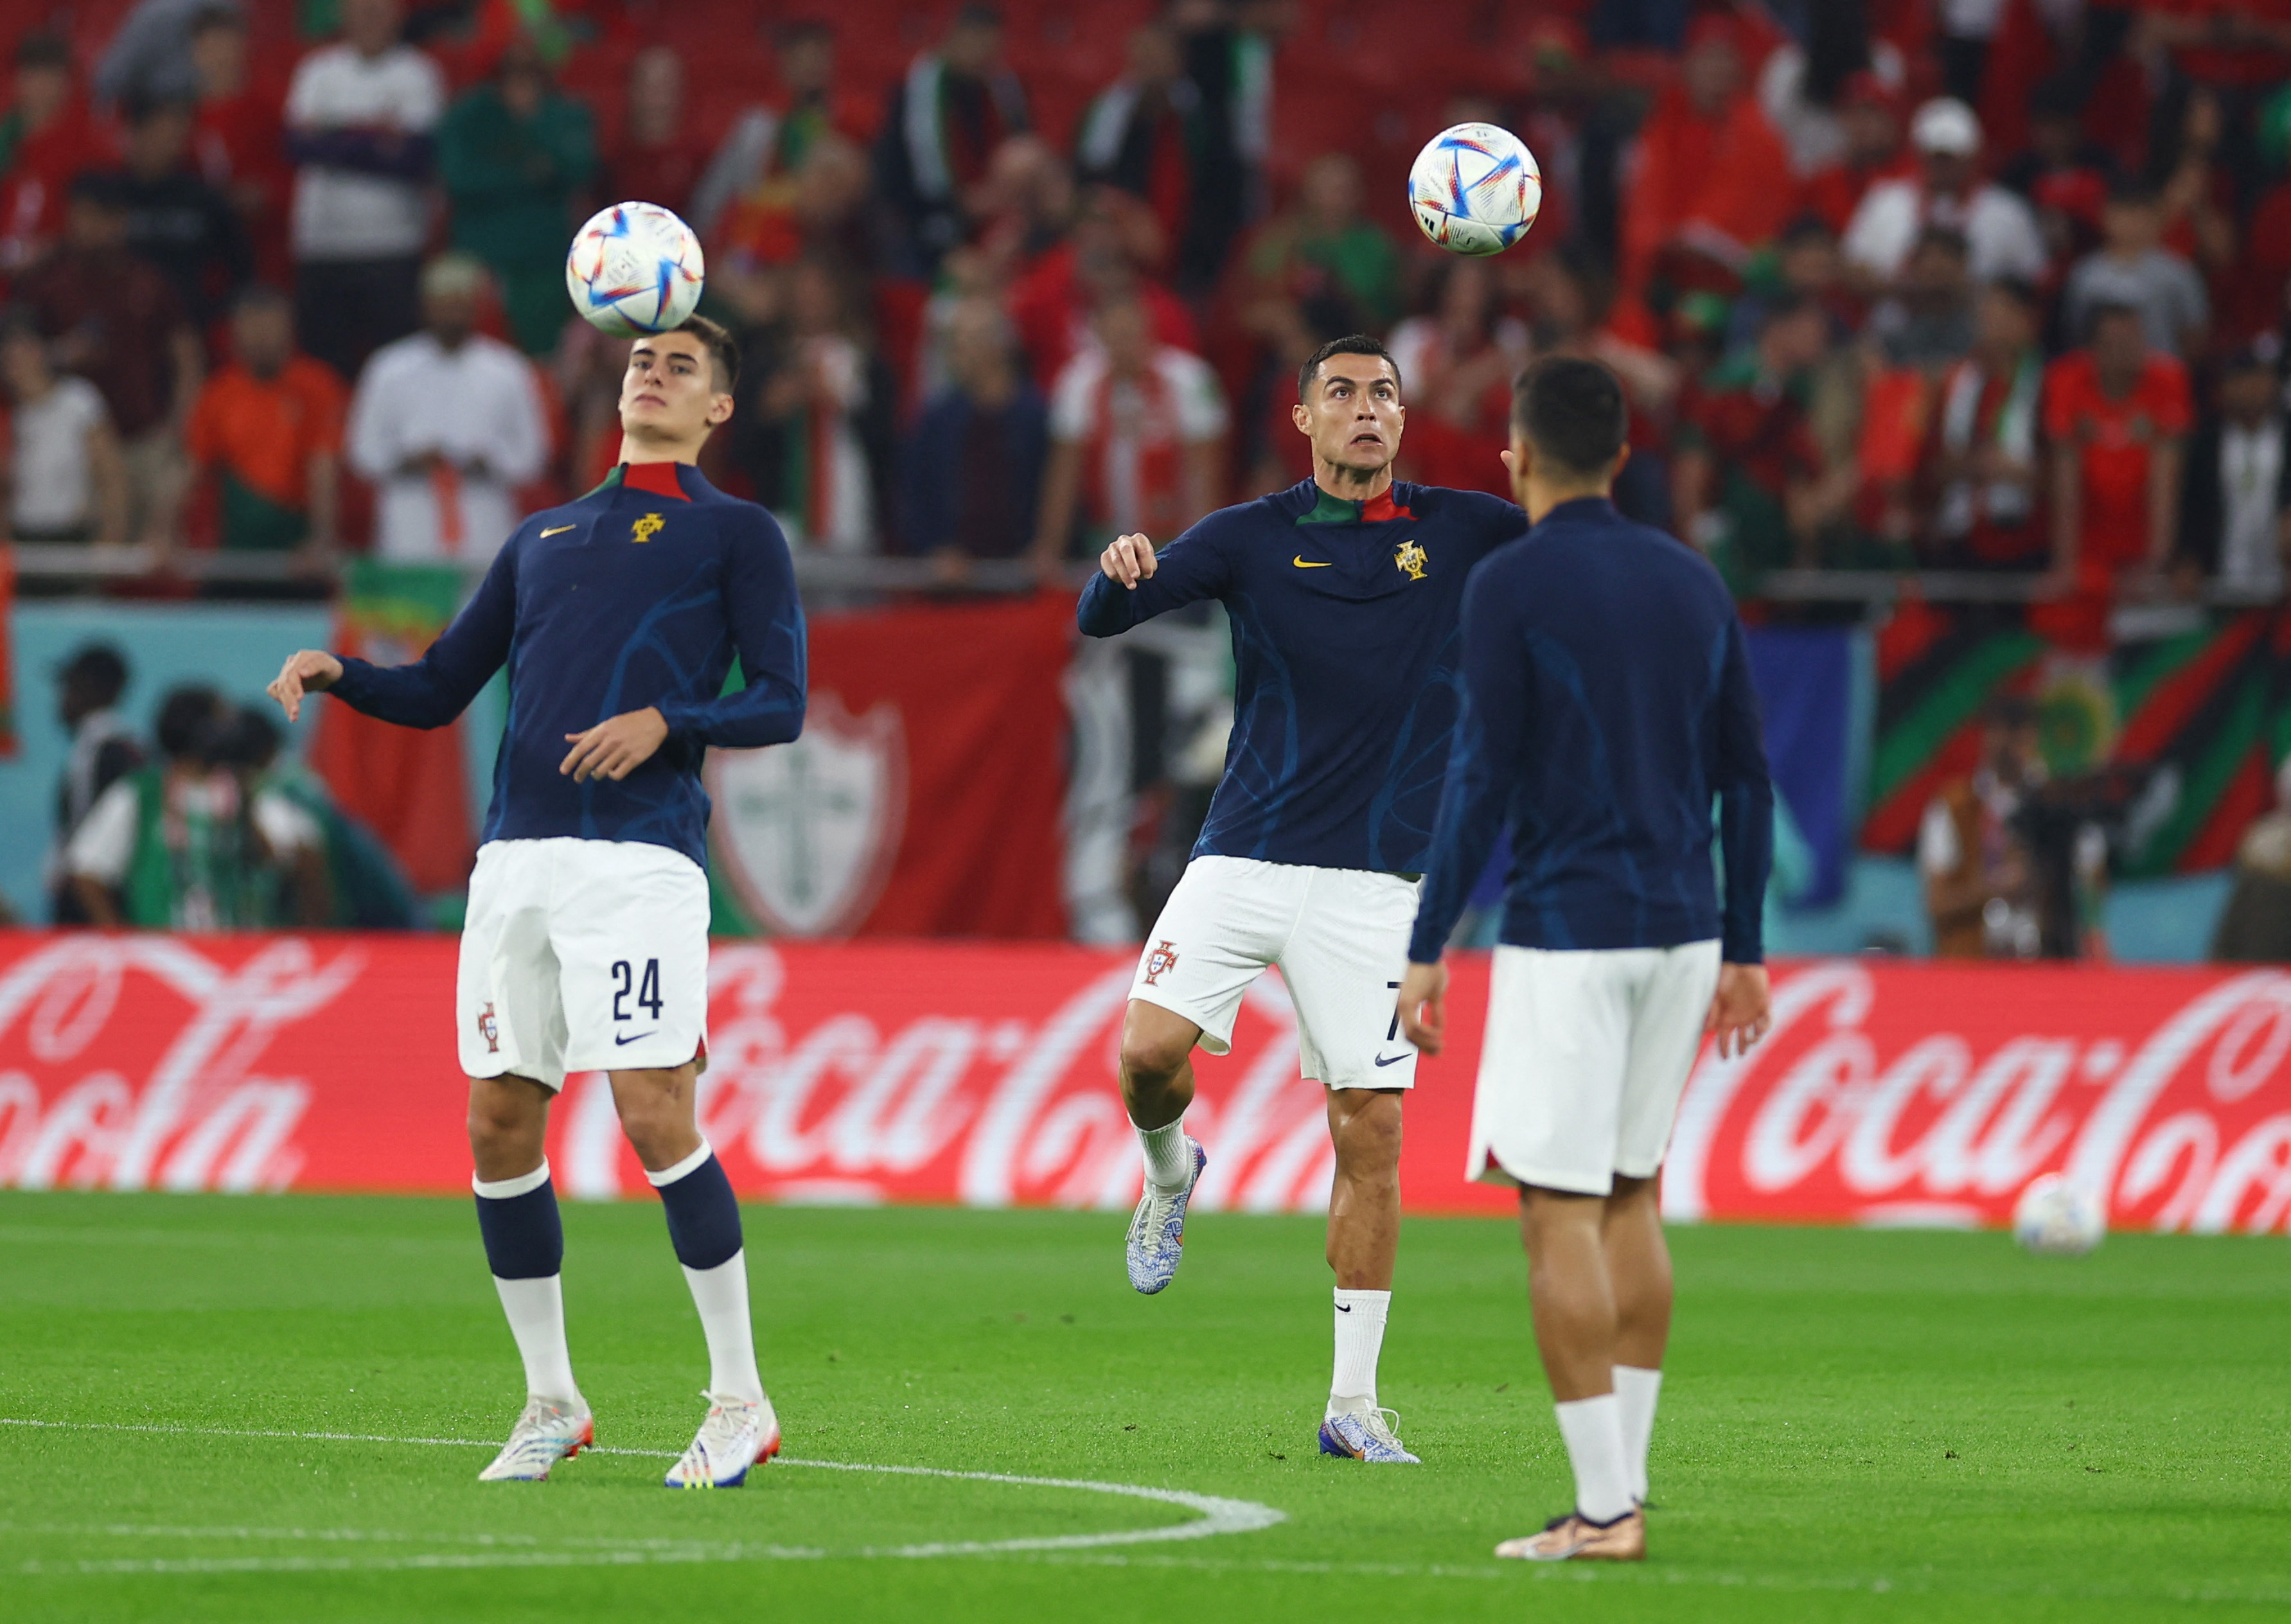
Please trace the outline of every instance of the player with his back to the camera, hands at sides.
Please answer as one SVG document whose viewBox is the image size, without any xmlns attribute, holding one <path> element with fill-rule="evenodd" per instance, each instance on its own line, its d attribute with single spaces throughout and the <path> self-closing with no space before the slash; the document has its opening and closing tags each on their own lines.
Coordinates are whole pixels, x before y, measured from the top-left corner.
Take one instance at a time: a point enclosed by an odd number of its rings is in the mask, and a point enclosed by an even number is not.
<svg viewBox="0 0 2291 1624">
<path fill-rule="evenodd" d="M 1441 948 L 1510 827 L 1469 1177 L 1519 1187 L 1576 1503 L 1496 1555 L 1631 1562 L 1670 1333 L 1656 1175 L 1705 1031 L 1721 1056 L 1766 1031 L 1773 790 L 1718 573 L 1608 499 L 1629 456 L 1615 376 L 1542 360 L 1512 417 L 1535 529 L 1464 589 L 1464 722 L 1400 1019 L 1439 1054 Z"/>
</svg>

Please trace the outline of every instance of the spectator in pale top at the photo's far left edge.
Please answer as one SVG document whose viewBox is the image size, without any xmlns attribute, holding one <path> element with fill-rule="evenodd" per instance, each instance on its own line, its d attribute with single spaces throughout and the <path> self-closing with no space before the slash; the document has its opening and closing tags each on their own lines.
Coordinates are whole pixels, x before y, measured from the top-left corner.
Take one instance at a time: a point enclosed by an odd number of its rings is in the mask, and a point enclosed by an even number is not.
<svg viewBox="0 0 2291 1624">
<path fill-rule="evenodd" d="M 9 403 L 9 534 L 16 541 L 126 541 L 126 467 L 96 385 L 60 376 L 39 330 L 21 318 L 0 328 L 0 383 Z"/>
</svg>

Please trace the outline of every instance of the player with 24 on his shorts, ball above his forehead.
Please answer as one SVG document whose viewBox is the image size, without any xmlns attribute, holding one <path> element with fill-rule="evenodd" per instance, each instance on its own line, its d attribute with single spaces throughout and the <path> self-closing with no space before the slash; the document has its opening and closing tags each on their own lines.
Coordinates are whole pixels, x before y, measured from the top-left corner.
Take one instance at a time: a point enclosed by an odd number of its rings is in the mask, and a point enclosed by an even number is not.
<svg viewBox="0 0 2291 1624">
<path fill-rule="evenodd" d="M 660 1189 L 708 1335 L 708 1418 L 669 1487 L 745 1482 L 779 1450 L 756 1374 L 731 1180 L 696 1120 L 708 1061 L 710 744 L 804 726 L 804 612 L 786 536 L 692 465 L 731 417 L 738 350 L 706 318 L 637 339 L 621 456 L 580 502 L 536 513 L 422 660 L 302 651 L 270 694 L 444 726 L 509 667 L 509 728 L 470 877 L 456 1031 L 470 1074 L 477 1221 L 527 1404 L 479 1477 L 538 1480 L 593 1441 L 566 1351 L 564 1230 L 543 1157 L 566 1072 L 607 1072 L 621 1129 Z M 745 687 L 724 694 L 733 660 Z"/>
</svg>

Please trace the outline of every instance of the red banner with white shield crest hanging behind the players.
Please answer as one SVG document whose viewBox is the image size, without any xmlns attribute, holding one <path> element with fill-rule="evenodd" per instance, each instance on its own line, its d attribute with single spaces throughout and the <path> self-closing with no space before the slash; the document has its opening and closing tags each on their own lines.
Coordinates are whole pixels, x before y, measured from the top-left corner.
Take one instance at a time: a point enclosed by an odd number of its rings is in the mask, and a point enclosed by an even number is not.
<svg viewBox="0 0 2291 1624">
<path fill-rule="evenodd" d="M 717 930 L 1065 937 L 1063 593 L 811 616 L 804 735 L 710 751 Z"/>
</svg>

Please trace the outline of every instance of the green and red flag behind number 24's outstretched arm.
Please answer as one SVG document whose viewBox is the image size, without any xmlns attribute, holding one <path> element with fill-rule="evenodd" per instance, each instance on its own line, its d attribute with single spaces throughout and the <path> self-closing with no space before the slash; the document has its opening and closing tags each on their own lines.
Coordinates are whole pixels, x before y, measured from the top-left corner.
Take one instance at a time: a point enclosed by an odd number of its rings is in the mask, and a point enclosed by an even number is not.
<svg viewBox="0 0 2291 1624">
<path fill-rule="evenodd" d="M 334 612 L 334 651 L 373 664 L 419 660 L 460 598 L 460 570 L 357 559 Z M 458 722 L 401 728 L 348 705 L 325 705 L 312 767 L 341 811 L 389 845 L 415 891 L 458 891 L 477 861 L 460 749 Z"/>
</svg>

